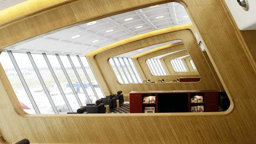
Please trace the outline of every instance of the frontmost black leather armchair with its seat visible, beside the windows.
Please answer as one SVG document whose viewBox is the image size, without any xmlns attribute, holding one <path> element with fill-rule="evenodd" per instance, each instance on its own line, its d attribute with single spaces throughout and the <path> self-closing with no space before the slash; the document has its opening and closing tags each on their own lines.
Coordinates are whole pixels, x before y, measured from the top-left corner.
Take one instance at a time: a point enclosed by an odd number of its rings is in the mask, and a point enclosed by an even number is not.
<svg viewBox="0 0 256 144">
<path fill-rule="evenodd" d="M 98 99 L 98 100 L 96 100 L 95 103 L 86 104 L 85 112 L 88 112 L 88 113 L 105 113 L 105 107 L 104 107 L 103 101 L 101 99 Z"/>
</svg>

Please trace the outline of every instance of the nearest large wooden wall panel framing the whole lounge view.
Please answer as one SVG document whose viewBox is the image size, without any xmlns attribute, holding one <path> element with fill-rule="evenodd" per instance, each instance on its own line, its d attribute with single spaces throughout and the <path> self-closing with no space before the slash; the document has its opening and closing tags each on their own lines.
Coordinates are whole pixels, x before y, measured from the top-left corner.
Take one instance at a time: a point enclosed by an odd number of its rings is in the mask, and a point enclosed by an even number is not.
<svg viewBox="0 0 256 144">
<path fill-rule="evenodd" d="M 37 14 L 37 17 L 32 15 L 27 19 L 20 19 L 16 24 L 11 23 L 0 28 L 0 48 L 80 20 L 95 20 L 106 15 L 171 2 L 171 0 L 87 0 L 86 2 L 87 5 L 84 4 L 85 0 L 78 1 L 81 4 L 78 6 L 83 9 L 75 12 L 74 15 L 62 15 L 63 17 L 55 19 L 49 17 L 44 22 L 39 20 L 41 16 L 50 16 L 53 12 L 56 16 L 58 16 L 57 12 L 71 13 L 71 9 L 56 8 L 47 13 Z M 228 111 L 28 115 L 22 111 L 0 66 L 2 137 L 8 142 L 28 138 L 31 142 L 39 143 L 256 143 L 256 73 L 255 61 L 252 58 L 252 55 L 255 55 L 252 52 L 255 45 L 251 40 L 244 40 L 255 35 L 255 31 L 247 33 L 247 36 L 237 33 L 239 30 L 234 26 L 235 23 L 226 9 L 224 0 L 180 0 L 180 2 L 186 7 L 205 44 L 213 68 L 228 93 L 231 100 Z M 95 6 L 98 8 L 96 9 Z M 84 16 L 84 13 L 89 13 L 89 16 Z M 80 19 L 72 21 L 76 15 L 79 15 Z M 48 26 L 44 27 L 44 25 Z M 147 135 L 148 133 L 150 135 Z M 1 143 L 2 141 L 0 140 Z"/>
</svg>

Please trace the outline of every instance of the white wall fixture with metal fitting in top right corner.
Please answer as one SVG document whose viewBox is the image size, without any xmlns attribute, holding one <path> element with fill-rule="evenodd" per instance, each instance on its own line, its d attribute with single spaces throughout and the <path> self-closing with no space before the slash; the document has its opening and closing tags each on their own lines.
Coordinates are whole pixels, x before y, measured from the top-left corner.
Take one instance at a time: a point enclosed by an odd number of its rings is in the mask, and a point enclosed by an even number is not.
<svg viewBox="0 0 256 144">
<path fill-rule="evenodd" d="M 225 0 L 239 30 L 256 30 L 256 0 Z"/>
</svg>

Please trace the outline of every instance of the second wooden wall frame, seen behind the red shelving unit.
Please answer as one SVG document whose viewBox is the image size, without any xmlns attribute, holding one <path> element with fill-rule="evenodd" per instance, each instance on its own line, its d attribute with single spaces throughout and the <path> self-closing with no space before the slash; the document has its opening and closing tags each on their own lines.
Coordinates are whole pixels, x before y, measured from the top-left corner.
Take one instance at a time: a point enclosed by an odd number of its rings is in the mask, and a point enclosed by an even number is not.
<svg viewBox="0 0 256 144">
<path fill-rule="evenodd" d="M 191 26 L 191 25 L 190 25 Z M 209 67 L 204 60 L 201 49 L 197 45 L 197 41 L 191 30 L 188 30 L 188 27 L 185 27 L 184 30 L 178 31 L 168 31 L 169 29 L 163 29 L 164 33 L 155 33 L 155 36 L 151 37 L 141 37 L 137 36 L 126 39 L 130 42 L 116 46 L 116 44 L 109 44 L 98 51 L 91 52 L 87 54 L 87 59 L 90 62 L 90 65 L 93 71 L 96 73 L 99 80 L 99 84 L 109 86 L 108 89 L 102 89 L 104 93 L 115 93 L 118 90 L 122 90 L 124 94 L 128 94 L 131 91 L 148 91 L 148 90 L 193 90 L 193 89 L 213 89 L 220 90 L 216 81 L 213 81 L 213 74 L 211 73 Z M 147 34 L 147 33 L 146 33 Z M 108 64 L 108 59 L 116 55 L 124 54 L 126 52 L 137 50 L 146 46 L 172 41 L 176 39 L 182 39 L 184 45 L 186 46 L 189 54 L 194 59 L 195 63 L 201 63 L 197 65 L 198 71 L 204 72 L 201 75 L 202 80 L 197 83 L 165 83 L 161 85 L 160 83 L 151 83 L 148 86 L 148 83 L 137 83 L 137 84 L 119 84 L 117 82 L 116 76 L 113 72 L 112 67 Z M 136 40 L 136 41 L 134 41 Z M 122 41 L 121 41 L 122 42 Z M 148 68 L 148 67 L 145 67 Z M 112 72 L 111 72 L 112 71 Z M 147 74 L 150 74 L 150 71 L 144 73 L 146 78 Z M 102 77 L 100 77 L 102 76 Z M 177 78 L 176 76 L 154 76 L 150 80 L 157 81 L 158 79 L 165 79 L 166 81 L 171 81 L 170 78 Z M 178 77 L 179 78 L 179 77 Z"/>
</svg>

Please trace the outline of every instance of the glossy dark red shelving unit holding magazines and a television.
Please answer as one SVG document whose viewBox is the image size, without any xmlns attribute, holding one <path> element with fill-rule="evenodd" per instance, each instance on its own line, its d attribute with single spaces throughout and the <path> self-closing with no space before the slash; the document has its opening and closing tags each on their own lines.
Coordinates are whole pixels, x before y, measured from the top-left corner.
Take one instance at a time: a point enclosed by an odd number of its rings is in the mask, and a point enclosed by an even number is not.
<svg viewBox="0 0 256 144">
<path fill-rule="evenodd" d="M 143 103 L 143 97 L 156 96 L 156 103 Z M 203 102 L 191 103 L 193 96 L 203 96 Z M 218 92 L 214 90 L 171 90 L 130 92 L 130 113 L 144 113 L 145 107 L 155 107 L 155 113 L 191 112 L 191 106 L 204 105 L 204 112 L 218 111 Z"/>
</svg>

